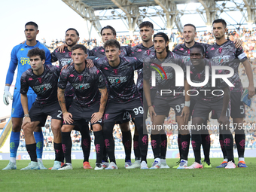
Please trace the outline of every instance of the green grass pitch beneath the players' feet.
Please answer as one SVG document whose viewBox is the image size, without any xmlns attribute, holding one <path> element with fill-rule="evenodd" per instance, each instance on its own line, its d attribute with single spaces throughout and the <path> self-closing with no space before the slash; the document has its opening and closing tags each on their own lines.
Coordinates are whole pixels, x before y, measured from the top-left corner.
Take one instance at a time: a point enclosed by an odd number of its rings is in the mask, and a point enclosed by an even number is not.
<svg viewBox="0 0 256 192">
<path fill-rule="evenodd" d="M 166 160 L 170 167 L 176 161 Z M 221 161 L 212 158 L 212 166 Z M 95 171 L 82 169 L 82 160 L 72 160 L 73 170 L 20 171 L 29 160 L 18 160 L 17 170 L 2 171 L 8 161 L 1 160 L 0 191 L 256 191 L 256 158 L 245 158 L 245 162 L 248 168 L 141 170 L 125 169 L 124 160 L 117 160 L 119 169 Z M 95 160 L 90 165 L 94 167 Z M 44 160 L 44 166 L 53 166 L 53 160 Z"/>
</svg>

